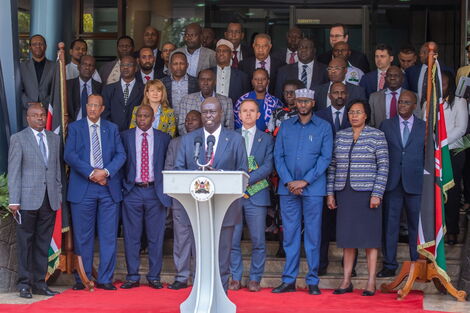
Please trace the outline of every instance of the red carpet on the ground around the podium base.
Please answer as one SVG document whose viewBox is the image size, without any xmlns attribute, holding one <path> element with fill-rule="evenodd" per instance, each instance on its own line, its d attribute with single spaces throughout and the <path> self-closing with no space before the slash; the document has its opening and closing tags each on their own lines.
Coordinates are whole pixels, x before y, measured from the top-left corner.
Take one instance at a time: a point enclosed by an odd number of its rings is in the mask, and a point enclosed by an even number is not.
<svg viewBox="0 0 470 313">
<path fill-rule="evenodd" d="M 310 296 L 300 290 L 275 295 L 270 289 L 251 293 L 246 289 L 229 292 L 229 298 L 237 305 L 238 313 L 408 313 L 423 310 L 423 295 L 411 293 L 404 301 L 397 301 L 395 294 L 378 293 L 374 297 L 353 294 L 333 295 L 322 290 L 321 296 Z M 155 290 L 147 286 L 131 290 L 94 292 L 67 290 L 60 295 L 33 304 L 0 304 L 1 313 L 179 313 L 179 305 L 189 295 L 190 289 L 173 291 Z M 220 312 L 223 313 L 223 312 Z"/>
</svg>

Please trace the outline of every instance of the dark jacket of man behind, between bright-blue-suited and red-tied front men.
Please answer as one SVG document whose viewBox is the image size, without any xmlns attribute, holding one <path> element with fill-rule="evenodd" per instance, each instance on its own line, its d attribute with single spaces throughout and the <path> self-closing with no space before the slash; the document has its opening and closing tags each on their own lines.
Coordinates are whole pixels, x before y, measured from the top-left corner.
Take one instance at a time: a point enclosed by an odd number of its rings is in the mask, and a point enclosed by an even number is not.
<svg viewBox="0 0 470 313">
<path fill-rule="evenodd" d="M 118 125 L 119 131 L 129 128 L 134 107 L 139 106 L 144 95 L 144 85 L 135 82 L 131 94 L 124 105 L 124 91 L 122 90 L 121 80 L 104 86 L 103 101 L 104 111 L 101 115 Z"/>
</svg>

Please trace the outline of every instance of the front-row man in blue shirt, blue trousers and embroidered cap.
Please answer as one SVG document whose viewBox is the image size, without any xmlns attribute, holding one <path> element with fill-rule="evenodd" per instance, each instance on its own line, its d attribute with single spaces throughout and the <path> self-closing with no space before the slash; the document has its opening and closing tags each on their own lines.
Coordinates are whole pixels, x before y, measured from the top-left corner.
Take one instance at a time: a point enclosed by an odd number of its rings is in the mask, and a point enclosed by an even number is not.
<svg viewBox="0 0 470 313">
<path fill-rule="evenodd" d="M 286 263 L 282 284 L 273 293 L 295 291 L 299 273 L 301 222 L 304 223 L 304 245 L 308 272 L 305 280 L 311 295 L 318 288 L 318 266 L 323 197 L 326 195 L 326 170 L 333 150 L 333 133 L 325 120 L 313 114 L 314 91 L 297 89 L 297 116 L 284 121 L 274 147 L 274 160 L 279 175 L 281 216 L 284 226 Z"/>
</svg>

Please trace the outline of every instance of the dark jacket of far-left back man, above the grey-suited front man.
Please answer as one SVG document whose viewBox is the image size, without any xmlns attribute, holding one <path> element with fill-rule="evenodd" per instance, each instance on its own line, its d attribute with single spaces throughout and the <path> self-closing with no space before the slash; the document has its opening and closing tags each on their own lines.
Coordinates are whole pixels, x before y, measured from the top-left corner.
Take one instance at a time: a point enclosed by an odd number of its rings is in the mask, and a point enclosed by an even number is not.
<svg viewBox="0 0 470 313">
<path fill-rule="evenodd" d="M 20 63 L 21 104 L 23 106 L 23 123 L 26 127 L 26 111 L 30 102 L 41 102 L 47 108 L 51 100 L 52 80 L 55 75 L 55 62 L 46 59 L 41 80 L 37 80 L 33 59 Z"/>
</svg>

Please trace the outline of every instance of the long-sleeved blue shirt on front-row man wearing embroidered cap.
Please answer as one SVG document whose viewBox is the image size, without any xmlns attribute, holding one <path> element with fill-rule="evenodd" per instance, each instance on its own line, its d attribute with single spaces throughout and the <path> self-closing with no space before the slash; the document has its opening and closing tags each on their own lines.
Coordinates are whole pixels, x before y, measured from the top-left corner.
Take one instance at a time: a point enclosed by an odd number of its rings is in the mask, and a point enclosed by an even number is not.
<svg viewBox="0 0 470 313">
<path fill-rule="evenodd" d="M 304 196 L 326 195 L 326 170 L 333 153 L 330 124 L 313 115 L 302 124 L 299 116 L 282 122 L 276 137 L 274 160 L 279 174 L 280 195 L 292 195 L 286 184 L 294 180 L 308 182 Z"/>
</svg>

